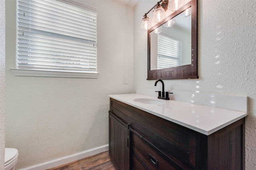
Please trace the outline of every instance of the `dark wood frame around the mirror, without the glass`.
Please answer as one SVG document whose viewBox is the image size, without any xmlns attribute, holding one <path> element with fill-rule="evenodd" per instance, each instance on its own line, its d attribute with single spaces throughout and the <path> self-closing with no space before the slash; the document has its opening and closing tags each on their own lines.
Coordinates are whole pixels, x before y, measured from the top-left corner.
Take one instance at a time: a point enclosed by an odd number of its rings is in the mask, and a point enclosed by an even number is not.
<svg viewBox="0 0 256 170">
<path fill-rule="evenodd" d="M 164 24 L 166 21 L 174 18 L 191 6 L 191 64 L 150 70 L 150 32 Z M 173 80 L 173 79 L 192 79 L 198 78 L 197 73 L 197 0 L 191 0 L 178 11 L 148 30 L 148 78 L 147 80 Z"/>
</svg>

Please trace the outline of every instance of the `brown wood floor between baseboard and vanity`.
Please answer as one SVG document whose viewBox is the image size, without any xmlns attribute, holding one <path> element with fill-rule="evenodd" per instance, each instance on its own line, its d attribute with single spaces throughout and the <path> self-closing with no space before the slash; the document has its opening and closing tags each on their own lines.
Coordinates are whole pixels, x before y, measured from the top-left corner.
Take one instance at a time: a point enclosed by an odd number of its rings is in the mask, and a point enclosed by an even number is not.
<svg viewBox="0 0 256 170">
<path fill-rule="evenodd" d="M 106 151 L 48 170 L 116 170 L 116 168 Z"/>
</svg>

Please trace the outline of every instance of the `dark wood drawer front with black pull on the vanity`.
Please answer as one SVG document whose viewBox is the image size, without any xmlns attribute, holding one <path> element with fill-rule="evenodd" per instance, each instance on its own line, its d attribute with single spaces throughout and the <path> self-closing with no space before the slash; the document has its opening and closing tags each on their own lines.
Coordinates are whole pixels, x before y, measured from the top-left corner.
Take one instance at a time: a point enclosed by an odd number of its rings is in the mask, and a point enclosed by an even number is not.
<svg viewBox="0 0 256 170">
<path fill-rule="evenodd" d="M 184 170 L 176 162 L 168 158 L 157 147 L 130 128 L 131 152 L 134 166 L 142 166 L 147 170 Z M 138 165 L 140 162 L 140 165 Z"/>
</svg>

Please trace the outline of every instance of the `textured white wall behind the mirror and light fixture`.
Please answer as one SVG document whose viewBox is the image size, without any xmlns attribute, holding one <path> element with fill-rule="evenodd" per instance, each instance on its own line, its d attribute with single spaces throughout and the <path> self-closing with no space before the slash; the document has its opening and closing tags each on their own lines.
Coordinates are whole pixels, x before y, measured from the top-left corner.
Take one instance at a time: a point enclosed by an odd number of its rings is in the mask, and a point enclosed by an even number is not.
<svg viewBox="0 0 256 170">
<path fill-rule="evenodd" d="M 155 88 L 147 77 L 147 33 L 142 16 L 152 5 L 134 8 L 134 86 Z M 167 90 L 248 96 L 246 170 L 256 167 L 256 1 L 198 1 L 198 76 L 164 80 Z M 156 89 L 161 89 L 160 84 Z"/>
</svg>

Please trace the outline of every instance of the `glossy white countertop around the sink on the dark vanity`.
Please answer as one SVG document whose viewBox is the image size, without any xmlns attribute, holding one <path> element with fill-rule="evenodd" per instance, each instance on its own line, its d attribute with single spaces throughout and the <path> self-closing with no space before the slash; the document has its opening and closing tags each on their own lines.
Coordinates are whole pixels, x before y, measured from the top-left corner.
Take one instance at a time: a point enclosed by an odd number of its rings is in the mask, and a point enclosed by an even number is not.
<svg viewBox="0 0 256 170">
<path fill-rule="evenodd" d="M 157 99 L 157 97 L 142 94 L 116 94 L 108 96 L 205 135 L 210 135 L 248 115 L 246 112 L 242 111 L 234 111 L 176 100 L 162 100 Z M 134 99 L 136 98 L 157 99 L 164 101 L 165 104 L 142 104 L 135 102 Z"/>
</svg>

